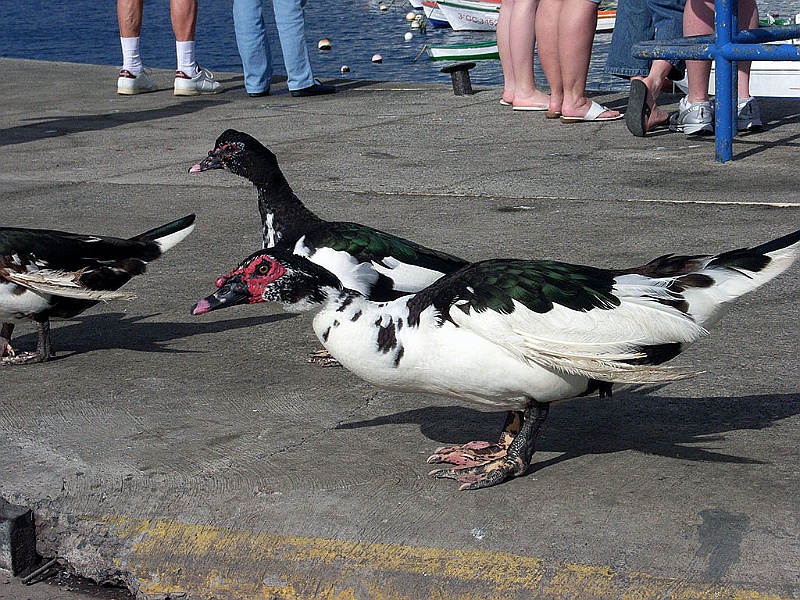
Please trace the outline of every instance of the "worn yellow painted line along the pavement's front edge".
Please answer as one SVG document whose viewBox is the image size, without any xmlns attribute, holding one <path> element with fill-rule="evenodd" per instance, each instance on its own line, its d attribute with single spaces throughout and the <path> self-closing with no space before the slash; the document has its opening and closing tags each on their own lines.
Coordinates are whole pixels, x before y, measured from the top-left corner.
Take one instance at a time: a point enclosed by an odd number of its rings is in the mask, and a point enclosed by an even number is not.
<svg viewBox="0 0 800 600">
<path fill-rule="evenodd" d="M 82 517 L 128 548 L 115 567 L 144 598 L 214 600 L 784 600 L 508 552 L 293 537 L 175 521 Z"/>
</svg>

